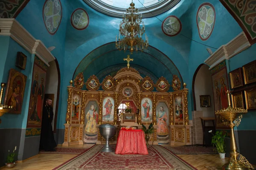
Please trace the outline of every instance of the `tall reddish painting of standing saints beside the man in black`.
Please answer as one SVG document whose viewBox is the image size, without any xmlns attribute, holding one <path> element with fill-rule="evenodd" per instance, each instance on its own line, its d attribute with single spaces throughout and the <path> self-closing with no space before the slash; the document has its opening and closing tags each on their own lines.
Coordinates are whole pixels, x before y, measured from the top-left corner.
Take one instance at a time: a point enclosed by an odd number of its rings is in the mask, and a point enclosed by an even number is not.
<svg viewBox="0 0 256 170">
<path fill-rule="evenodd" d="M 46 71 L 38 65 L 34 64 L 32 87 L 29 102 L 29 125 L 41 125 L 42 109 L 44 105 L 44 87 L 45 87 Z"/>
</svg>

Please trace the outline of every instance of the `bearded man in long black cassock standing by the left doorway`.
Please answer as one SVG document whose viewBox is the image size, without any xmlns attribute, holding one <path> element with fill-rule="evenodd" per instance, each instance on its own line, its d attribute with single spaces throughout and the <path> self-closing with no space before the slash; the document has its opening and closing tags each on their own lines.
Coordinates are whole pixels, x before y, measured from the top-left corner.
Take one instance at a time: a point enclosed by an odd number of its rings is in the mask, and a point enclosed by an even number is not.
<svg viewBox="0 0 256 170">
<path fill-rule="evenodd" d="M 55 151 L 57 146 L 53 131 L 52 131 L 52 119 L 53 119 L 53 110 L 52 110 L 52 100 L 46 99 L 43 117 L 42 117 L 42 128 L 41 128 L 41 139 L 40 139 L 40 149 L 45 151 Z"/>
</svg>

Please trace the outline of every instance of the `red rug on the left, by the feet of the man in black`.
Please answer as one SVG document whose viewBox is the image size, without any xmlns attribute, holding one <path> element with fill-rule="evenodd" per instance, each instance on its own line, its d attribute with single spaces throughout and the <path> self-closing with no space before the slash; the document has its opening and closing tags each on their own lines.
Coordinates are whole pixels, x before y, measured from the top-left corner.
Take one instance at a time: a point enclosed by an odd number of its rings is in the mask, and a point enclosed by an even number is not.
<svg viewBox="0 0 256 170">
<path fill-rule="evenodd" d="M 80 154 L 88 150 L 88 148 L 65 148 L 65 147 L 55 147 L 55 149 L 56 151 L 39 150 L 39 153 Z"/>
</svg>

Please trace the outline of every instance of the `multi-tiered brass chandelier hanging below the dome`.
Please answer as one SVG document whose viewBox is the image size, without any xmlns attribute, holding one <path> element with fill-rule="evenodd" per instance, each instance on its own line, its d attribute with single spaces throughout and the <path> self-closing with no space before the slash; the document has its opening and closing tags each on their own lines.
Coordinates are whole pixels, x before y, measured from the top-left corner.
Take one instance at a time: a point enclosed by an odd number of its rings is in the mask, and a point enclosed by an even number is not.
<svg viewBox="0 0 256 170">
<path fill-rule="evenodd" d="M 131 1 L 130 7 L 126 9 L 126 14 L 122 17 L 122 21 L 120 21 L 119 25 L 119 38 L 117 42 L 116 35 L 116 48 L 119 51 L 126 51 L 130 48 L 130 52 L 132 54 L 133 51 L 138 51 L 146 49 L 148 47 L 148 37 L 145 34 L 145 41 L 142 39 L 143 34 L 145 33 L 145 25 L 142 22 L 142 14 L 139 15 L 138 8 L 134 7 L 135 4 Z M 142 23 L 142 28 L 140 24 Z M 122 26 L 124 24 L 124 26 Z M 122 35 L 122 39 L 120 39 L 120 35 Z"/>
</svg>

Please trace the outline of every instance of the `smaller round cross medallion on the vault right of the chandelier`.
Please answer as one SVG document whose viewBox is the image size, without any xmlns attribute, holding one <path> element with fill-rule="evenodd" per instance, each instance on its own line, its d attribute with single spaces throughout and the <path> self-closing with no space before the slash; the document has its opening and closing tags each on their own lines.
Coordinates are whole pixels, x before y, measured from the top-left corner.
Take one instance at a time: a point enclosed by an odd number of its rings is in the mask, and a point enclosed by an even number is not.
<svg viewBox="0 0 256 170">
<path fill-rule="evenodd" d="M 182 29 L 182 24 L 178 17 L 174 15 L 170 15 L 169 17 L 166 17 L 165 20 L 163 20 L 163 23 L 162 23 L 163 34 L 173 37 L 179 34 L 181 29 Z"/>
</svg>

